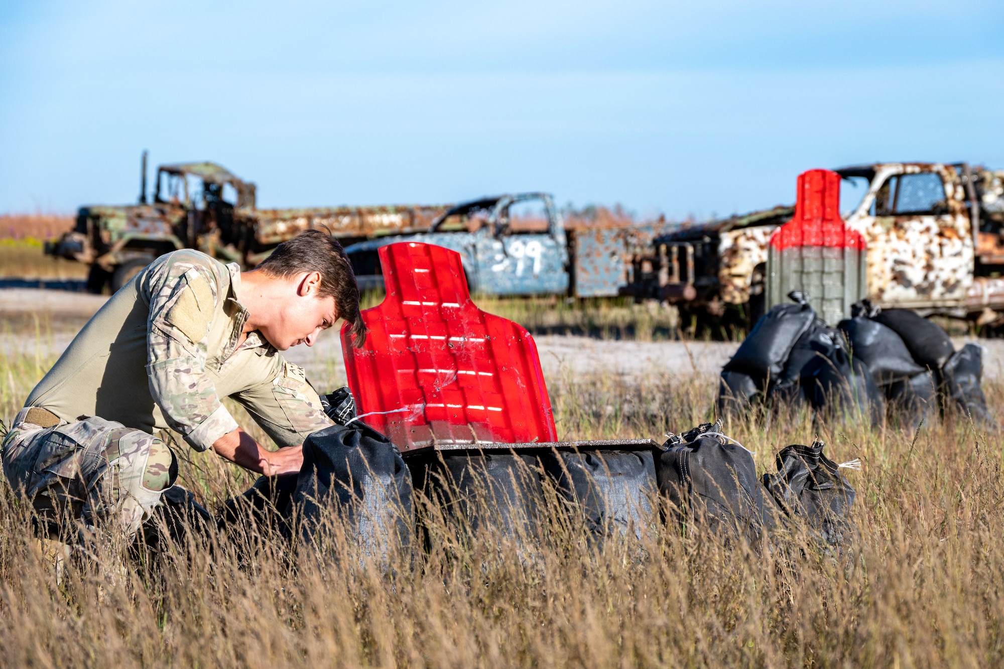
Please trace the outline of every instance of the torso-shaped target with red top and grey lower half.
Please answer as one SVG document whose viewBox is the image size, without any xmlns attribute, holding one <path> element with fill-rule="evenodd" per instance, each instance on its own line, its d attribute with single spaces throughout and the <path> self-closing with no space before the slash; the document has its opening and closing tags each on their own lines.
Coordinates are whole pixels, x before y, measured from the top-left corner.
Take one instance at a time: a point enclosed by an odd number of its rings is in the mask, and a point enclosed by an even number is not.
<svg viewBox="0 0 1004 669">
<path fill-rule="evenodd" d="M 767 308 L 804 292 L 830 325 L 850 316 L 864 296 L 864 240 L 840 218 L 840 175 L 809 170 L 798 175 L 795 212 L 767 244 Z"/>
</svg>

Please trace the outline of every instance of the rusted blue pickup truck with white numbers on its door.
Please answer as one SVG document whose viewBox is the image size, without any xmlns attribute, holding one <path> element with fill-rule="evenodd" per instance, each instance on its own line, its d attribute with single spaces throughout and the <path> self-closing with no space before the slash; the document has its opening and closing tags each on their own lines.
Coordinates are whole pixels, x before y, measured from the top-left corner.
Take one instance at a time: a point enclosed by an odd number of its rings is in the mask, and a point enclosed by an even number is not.
<svg viewBox="0 0 1004 669">
<path fill-rule="evenodd" d="M 459 204 L 426 232 L 387 235 L 345 251 L 361 288 L 384 287 L 378 249 L 415 241 L 460 253 L 473 292 L 612 297 L 628 285 L 631 250 L 673 227 L 664 220 L 566 222 L 549 194 L 511 193 Z"/>
</svg>

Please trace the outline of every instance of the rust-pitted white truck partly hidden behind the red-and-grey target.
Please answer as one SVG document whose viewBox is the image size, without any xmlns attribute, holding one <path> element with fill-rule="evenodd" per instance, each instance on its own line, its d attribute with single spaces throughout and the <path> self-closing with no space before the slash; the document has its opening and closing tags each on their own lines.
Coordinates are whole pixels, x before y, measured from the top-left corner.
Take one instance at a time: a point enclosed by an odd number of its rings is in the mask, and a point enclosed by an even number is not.
<svg viewBox="0 0 1004 669">
<path fill-rule="evenodd" d="M 886 307 L 1002 321 L 1004 171 L 966 163 L 876 163 L 835 170 L 841 217 L 866 245 L 864 292 Z M 700 316 L 755 322 L 768 241 L 792 207 L 684 225 L 634 249 L 623 294 Z"/>
</svg>

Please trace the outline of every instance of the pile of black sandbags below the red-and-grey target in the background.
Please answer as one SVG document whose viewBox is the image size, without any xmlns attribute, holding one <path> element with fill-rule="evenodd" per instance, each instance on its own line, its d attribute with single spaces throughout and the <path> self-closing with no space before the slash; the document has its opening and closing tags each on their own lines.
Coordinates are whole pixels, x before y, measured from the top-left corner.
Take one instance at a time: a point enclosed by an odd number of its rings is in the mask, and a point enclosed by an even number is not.
<svg viewBox="0 0 1004 669">
<path fill-rule="evenodd" d="M 805 295 L 766 313 L 722 371 L 720 415 L 742 415 L 756 398 L 768 406 L 807 403 L 818 412 L 887 417 L 916 428 L 932 410 L 955 406 L 981 426 L 991 421 L 980 387 L 982 350 L 956 352 L 948 333 L 910 309 L 867 300 L 829 327 Z"/>
</svg>

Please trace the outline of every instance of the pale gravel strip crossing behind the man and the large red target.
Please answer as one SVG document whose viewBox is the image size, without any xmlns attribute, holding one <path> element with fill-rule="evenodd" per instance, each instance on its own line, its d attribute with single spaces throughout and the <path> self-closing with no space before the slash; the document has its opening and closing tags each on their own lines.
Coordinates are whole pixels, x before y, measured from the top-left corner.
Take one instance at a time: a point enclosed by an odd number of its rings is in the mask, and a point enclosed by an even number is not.
<svg viewBox="0 0 1004 669">
<path fill-rule="evenodd" d="M 4 321 L 35 314 L 50 318 L 69 318 L 73 329 L 53 325 L 51 333 L 40 340 L 32 331 L 0 332 L 0 351 L 34 353 L 36 342 L 43 350 L 61 352 L 73 338 L 80 318 L 93 314 L 107 297 L 81 293 L 13 288 L 0 290 L 0 318 Z M 680 376 L 716 375 L 735 353 L 737 345 L 718 342 L 615 342 L 586 337 L 545 334 L 535 338 L 544 373 L 553 378 L 560 372 L 581 374 L 606 371 L 625 376 L 668 372 Z M 956 349 L 967 339 L 956 339 Z M 984 374 L 988 379 L 1004 378 L 1004 340 L 978 340 L 985 349 Z M 317 344 L 299 346 L 286 352 L 286 358 L 306 368 L 312 378 L 344 378 L 341 342 L 336 331 L 324 332 Z"/>
</svg>

